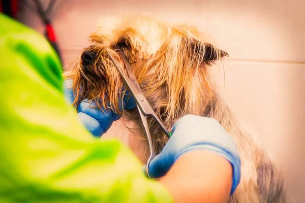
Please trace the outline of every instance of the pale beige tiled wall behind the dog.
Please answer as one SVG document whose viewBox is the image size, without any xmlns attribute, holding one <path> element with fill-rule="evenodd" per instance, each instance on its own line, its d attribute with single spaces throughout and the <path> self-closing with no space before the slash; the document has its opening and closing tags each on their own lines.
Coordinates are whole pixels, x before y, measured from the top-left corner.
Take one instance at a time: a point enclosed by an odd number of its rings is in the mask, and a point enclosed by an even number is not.
<svg viewBox="0 0 305 203">
<path fill-rule="evenodd" d="M 230 54 L 223 60 L 225 82 L 222 64 L 213 67 L 225 100 L 282 167 L 291 202 L 305 202 L 305 1 L 60 0 L 53 22 L 64 63 L 88 44 L 100 17 L 130 12 L 192 22 L 215 36 Z M 42 32 L 26 7 L 19 18 Z"/>
</svg>

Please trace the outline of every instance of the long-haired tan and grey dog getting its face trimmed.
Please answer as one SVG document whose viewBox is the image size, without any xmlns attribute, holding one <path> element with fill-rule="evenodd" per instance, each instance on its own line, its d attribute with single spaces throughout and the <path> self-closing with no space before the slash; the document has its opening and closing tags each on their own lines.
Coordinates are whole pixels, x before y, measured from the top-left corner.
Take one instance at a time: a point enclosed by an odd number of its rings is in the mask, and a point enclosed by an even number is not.
<svg viewBox="0 0 305 203">
<path fill-rule="evenodd" d="M 182 116 L 193 114 L 214 118 L 229 132 L 241 158 L 241 180 L 231 203 L 286 202 L 283 177 L 276 164 L 254 133 L 234 117 L 212 81 L 212 65 L 228 56 L 212 36 L 188 24 L 132 15 L 102 19 L 89 41 L 73 69 L 65 73 L 66 78 L 73 79 L 74 105 L 87 98 L 96 101 L 97 108 L 123 115 L 129 137 L 134 137 L 133 151 L 143 162 L 147 146 L 143 127 L 138 124 L 139 113 L 120 110 L 126 87 L 108 52 L 124 67 L 118 54 L 124 51 L 144 96 L 168 129 Z M 158 154 L 167 137 L 154 120 L 148 120 L 148 126 Z"/>
</svg>

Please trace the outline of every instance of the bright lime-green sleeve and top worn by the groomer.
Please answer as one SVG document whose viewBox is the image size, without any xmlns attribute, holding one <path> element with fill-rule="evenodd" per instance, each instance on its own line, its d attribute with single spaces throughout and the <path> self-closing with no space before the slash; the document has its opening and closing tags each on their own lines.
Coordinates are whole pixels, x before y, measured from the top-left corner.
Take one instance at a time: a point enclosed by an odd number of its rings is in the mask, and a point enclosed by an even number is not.
<svg viewBox="0 0 305 203">
<path fill-rule="evenodd" d="M 66 103 L 45 39 L 0 14 L 0 202 L 172 202 L 134 154 Z"/>
</svg>

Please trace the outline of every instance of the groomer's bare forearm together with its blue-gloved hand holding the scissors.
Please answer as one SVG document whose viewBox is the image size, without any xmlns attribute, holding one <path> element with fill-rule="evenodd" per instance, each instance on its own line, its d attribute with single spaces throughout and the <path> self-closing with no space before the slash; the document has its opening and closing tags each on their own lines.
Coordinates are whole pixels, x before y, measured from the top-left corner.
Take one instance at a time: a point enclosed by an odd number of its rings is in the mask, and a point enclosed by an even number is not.
<svg viewBox="0 0 305 203">
<path fill-rule="evenodd" d="M 174 124 L 148 172 L 163 177 L 161 183 L 177 202 L 227 202 L 240 181 L 240 158 L 217 120 L 186 115 Z"/>
</svg>

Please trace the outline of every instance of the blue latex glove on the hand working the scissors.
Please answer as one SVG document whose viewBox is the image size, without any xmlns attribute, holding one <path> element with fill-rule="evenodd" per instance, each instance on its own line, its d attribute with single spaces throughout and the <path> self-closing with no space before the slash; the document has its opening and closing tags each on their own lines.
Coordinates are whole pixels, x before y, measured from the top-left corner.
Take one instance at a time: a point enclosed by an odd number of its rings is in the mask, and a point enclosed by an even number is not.
<svg viewBox="0 0 305 203">
<path fill-rule="evenodd" d="M 227 159 L 233 169 L 231 194 L 240 181 L 240 158 L 234 141 L 220 123 L 212 118 L 186 115 L 172 128 L 172 136 L 162 152 L 148 166 L 151 178 L 164 176 L 183 154 L 194 150 L 208 150 Z"/>
</svg>

